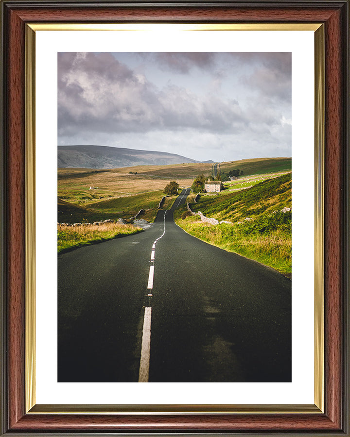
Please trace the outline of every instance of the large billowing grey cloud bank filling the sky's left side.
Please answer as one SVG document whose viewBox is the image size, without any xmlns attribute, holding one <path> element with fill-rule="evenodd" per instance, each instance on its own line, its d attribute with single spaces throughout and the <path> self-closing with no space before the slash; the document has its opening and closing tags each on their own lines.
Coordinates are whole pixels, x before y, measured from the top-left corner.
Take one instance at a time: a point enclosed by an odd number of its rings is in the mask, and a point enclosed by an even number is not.
<svg viewBox="0 0 350 437">
<path fill-rule="evenodd" d="M 108 53 L 64 54 L 59 59 L 60 135 L 74 126 L 108 132 L 186 127 L 219 131 L 242 129 L 246 122 L 237 101 L 198 96 L 172 84 L 159 90 Z"/>
</svg>

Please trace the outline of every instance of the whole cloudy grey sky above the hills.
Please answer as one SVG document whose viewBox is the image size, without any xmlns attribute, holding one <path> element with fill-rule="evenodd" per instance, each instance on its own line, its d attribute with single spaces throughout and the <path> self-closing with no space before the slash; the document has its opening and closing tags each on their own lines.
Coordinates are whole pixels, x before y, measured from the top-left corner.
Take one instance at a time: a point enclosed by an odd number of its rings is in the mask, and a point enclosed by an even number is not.
<svg viewBox="0 0 350 437">
<path fill-rule="evenodd" d="M 58 53 L 58 145 L 291 156 L 291 53 Z"/>
</svg>

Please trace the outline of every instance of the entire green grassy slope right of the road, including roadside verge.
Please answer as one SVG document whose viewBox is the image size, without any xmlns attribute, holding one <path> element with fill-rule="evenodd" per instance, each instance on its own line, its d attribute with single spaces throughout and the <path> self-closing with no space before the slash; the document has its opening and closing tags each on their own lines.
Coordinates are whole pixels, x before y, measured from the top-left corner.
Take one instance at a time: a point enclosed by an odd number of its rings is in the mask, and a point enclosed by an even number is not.
<svg viewBox="0 0 350 437">
<path fill-rule="evenodd" d="M 175 211 L 175 222 L 197 238 L 291 277 L 292 211 L 281 212 L 291 207 L 291 178 L 289 173 L 229 195 L 201 195 L 191 203 L 193 211 L 230 224 L 203 223 L 186 206 Z"/>
</svg>

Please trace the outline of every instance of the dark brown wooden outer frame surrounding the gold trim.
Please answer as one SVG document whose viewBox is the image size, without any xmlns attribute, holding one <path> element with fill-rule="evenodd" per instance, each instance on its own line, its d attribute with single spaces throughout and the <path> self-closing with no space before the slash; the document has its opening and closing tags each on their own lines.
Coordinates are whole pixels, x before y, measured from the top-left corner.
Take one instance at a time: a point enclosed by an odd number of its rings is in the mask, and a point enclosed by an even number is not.
<svg viewBox="0 0 350 437">
<path fill-rule="evenodd" d="M 1 2 L 0 435 L 350 436 L 349 0 Z M 301 22 L 325 25 L 325 413 L 25 414 L 25 23 Z"/>
</svg>

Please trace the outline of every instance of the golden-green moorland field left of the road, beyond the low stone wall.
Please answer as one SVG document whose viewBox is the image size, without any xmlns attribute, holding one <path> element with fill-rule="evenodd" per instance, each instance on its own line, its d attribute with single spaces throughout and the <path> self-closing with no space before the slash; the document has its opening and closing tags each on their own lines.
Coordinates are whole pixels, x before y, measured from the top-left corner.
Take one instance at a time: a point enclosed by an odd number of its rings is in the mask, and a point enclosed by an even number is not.
<svg viewBox="0 0 350 437">
<path fill-rule="evenodd" d="M 174 166 L 138 166 L 112 170 L 84 168 L 58 169 L 58 222 L 99 221 L 106 218 L 134 217 L 140 209 L 142 218 L 154 221 L 163 190 L 171 180 L 180 187 L 192 184 L 197 171 L 210 171 L 211 164 Z M 131 173 L 132 172 L 132 173 Z M 135 172 L 137 174 L 135 174 Z M 174 202 L 166 200 L 164 207 Z"/>
</svg>

